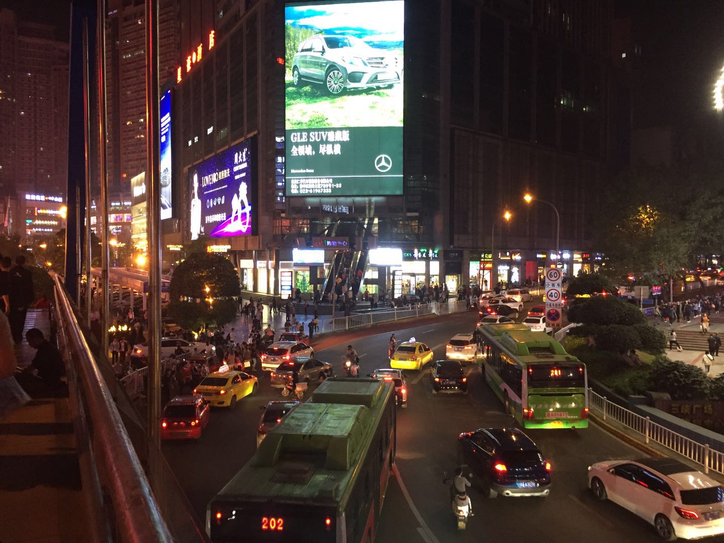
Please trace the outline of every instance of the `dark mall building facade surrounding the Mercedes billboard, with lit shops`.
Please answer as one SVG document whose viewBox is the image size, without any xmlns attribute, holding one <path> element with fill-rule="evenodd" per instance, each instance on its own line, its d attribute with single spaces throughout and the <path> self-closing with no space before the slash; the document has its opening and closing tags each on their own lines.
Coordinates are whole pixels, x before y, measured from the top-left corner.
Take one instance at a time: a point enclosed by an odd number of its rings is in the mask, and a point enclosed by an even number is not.
<svg viewBox="0 0 724 543">
<path fill-rule="evenodd" d="M 552 263 L 567 274 L 590 268 L 595 202 L 618 145 L 613 1 L 405 2 L 403 195 L 345 198 L 285 196 L 284 9 L 282 0 L 184 3 L 177 206 L 164 243 L 190 241 L 190 169 L 255 138 L 255 234 L 204 238 L 247 290 L 321 285 L 329 243 L 343 239 L 400 248 L 401 264 L 366 271 L 372 292 L 395 296 L 423 283 L 536 281 Z M 313 246 L 327 248 L 325 264 L 293 261 L 293 248 Z"/>
</svg>

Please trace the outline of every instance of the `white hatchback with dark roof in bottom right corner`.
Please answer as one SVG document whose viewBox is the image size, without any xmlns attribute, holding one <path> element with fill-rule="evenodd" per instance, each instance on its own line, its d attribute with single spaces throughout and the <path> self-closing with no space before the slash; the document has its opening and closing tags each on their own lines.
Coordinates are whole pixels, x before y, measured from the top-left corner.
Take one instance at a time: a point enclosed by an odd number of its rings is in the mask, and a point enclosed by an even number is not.
<svg viewBox="0 0 724 543">
<path fill-rule="evenodd" d="M 652 524 L 665 541 L 724 534 L 724 487 L 671 458 L 589 466 L 589 488 Z"/>
</svg>

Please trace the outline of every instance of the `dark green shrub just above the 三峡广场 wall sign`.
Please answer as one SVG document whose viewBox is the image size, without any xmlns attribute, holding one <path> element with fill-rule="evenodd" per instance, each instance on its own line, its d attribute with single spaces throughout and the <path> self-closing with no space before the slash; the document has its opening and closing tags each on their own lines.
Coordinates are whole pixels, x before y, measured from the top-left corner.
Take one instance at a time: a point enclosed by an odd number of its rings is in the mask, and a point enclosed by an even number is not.
<svg viewBox="0 0 724 543">
<path fill-rule="evenodd" d="M 657 356 L 650 374 L 652 390 L 668 392 L 673 400 L 705 400 L 709 397 L 710 378 L 701 368 Z"/>
</svg>

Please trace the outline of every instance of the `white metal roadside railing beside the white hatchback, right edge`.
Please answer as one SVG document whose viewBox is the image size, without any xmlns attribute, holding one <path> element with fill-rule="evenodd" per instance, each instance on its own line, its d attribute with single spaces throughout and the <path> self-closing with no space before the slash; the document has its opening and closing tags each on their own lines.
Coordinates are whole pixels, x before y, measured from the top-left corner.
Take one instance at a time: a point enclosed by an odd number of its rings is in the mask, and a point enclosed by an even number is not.
<svg viewBox="0 0 724 543">
<path fill-rule="evenodd" d="M 654 442 L 672 450 L 678 455 L 704 466 L 704 473 L 709 470 L 724 475 L 724 453 L 712 450 L 709 445 L 696 442 L 689 437 L 683 436 L 653 422 L 650 417 L 644 417 L 633 413 L 620 405 L 611 402 L 605 396 L 601 396 L 589 389 L 589 407 L 601 414 L 604 421 L 613 419 L 618 423 L 638 432 L 644 438 L 644 442 Z"/>
</svg>

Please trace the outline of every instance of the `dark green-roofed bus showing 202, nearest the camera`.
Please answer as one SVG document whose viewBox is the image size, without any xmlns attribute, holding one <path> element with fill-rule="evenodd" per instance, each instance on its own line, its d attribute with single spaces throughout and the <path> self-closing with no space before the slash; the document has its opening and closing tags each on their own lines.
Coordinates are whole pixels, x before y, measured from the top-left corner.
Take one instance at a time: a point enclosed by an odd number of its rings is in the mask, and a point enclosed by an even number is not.
<svg viewBox="0 0 724 543">
<path fill-rule="evenodd" d="M 214 543 L 371 543 L 395 460 L 394 383 L 330 377 L 206 509 Z"/>
</svg>

